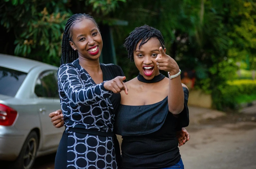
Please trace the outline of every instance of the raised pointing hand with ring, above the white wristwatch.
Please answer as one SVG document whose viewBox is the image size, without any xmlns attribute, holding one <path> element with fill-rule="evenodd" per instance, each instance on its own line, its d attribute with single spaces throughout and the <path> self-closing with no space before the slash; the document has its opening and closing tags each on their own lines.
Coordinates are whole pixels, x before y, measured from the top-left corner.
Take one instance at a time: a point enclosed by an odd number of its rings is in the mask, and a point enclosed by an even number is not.
<svg viewBox="0 0 256 169">
<path fill-rule="evenodd" d="M 157 55 L 156 59 L 158 69 L 170 72 L 171 75 L 177 74 L 179 72 L 179 66 L 177 62 L 169 55 L 166 55 L 162 47 L 159 48 L 159 51 L 160 54 Z"/>
</svg>

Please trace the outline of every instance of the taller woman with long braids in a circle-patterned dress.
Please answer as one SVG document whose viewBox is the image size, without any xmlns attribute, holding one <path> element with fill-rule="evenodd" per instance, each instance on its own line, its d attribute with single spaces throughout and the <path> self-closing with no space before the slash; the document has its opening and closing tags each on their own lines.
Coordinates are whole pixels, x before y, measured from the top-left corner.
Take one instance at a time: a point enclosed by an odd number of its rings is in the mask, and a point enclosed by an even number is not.
<svg viewBox="0 0 256 169">
<path fill-rule="evenodd" d="M 120 91 L 128 94 L 124 73 L 119 66 L 99 63 L 102 39 L 90 15 L 75 14 L 68 19 L 61 50 L 57 75 L 66 129 L 55 169 L 116 169 L 120 149 L 113 122 Z"/>
</svg>

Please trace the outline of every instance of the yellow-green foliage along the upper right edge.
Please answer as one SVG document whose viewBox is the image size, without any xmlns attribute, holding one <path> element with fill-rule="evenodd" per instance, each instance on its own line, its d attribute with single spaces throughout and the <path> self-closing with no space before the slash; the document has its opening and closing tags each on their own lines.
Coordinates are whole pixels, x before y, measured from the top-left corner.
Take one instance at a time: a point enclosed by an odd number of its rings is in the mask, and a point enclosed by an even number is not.
<svg viewBox="0 0 256 169">
<path fill-rule="evenodd" d="M 232 39 L 228 55 L 247 60 L 248 69 L 256 70 L 256 4 L 252 0 L 236 0 L 236 4 L 240 6 L 233 6 L 232 17 L 239 18 L 239 22 L 228 33 Z"/>
</svg>

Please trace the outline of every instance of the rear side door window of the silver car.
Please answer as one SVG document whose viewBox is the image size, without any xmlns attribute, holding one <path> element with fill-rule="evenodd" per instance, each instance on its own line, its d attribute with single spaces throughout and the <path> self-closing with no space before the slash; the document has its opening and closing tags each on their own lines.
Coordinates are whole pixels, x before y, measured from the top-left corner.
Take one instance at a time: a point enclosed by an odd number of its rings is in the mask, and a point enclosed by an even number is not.
<svg viewBox="0 0 256 169">
<path fill-rule="evenodd" d="M 58 97 L 58 84 L 55 78 L 56 71 L 43 72 L 36 81 L 35 94 L 38 97 Z"/>
</svg>

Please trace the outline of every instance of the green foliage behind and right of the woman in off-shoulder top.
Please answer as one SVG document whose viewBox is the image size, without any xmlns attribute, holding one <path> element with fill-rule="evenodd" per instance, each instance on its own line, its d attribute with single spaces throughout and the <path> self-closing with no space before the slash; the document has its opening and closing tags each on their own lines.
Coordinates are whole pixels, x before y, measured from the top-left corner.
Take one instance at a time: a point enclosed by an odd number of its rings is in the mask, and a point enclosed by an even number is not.
<svg viewBox="0 0 256 169">
<path fill-rule="evenodd" d="M 195 70 L 196 88 L 212 94 L 213 106 L 223 110 L 232 106 L 222 90 L 236 78 L 236 62 L 249 55 L 252 67 L 255 58 L 254 6 L 255 2 L 244 0 L 127 1 L 114 14 L 129 21 L 128 27 L 114 27 L 118 64 L 128 79 L 136 76 L 134 64 L 128 63 L 122 50 L 123 40 L 134 27 L 156 27 L 164 36 L 167 54 L 181 70 Z"/>
</svg>

